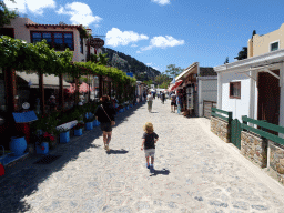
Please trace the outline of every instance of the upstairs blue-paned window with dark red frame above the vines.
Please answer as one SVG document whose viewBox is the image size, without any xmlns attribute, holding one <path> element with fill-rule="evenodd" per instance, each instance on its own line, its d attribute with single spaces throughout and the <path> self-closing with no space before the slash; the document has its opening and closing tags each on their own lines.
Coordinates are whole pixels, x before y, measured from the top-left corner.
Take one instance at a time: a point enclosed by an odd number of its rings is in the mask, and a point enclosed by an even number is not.
<svg viewBox="0 0 284 213">
<path fill-rule="evenodd" d="M 64 51 L 67 48 L 74 50 L 72 32 L 31 32 L 31 42 L 37 43 L 47 40 L 50 48 L 57 51 Z"/>
</svg>

